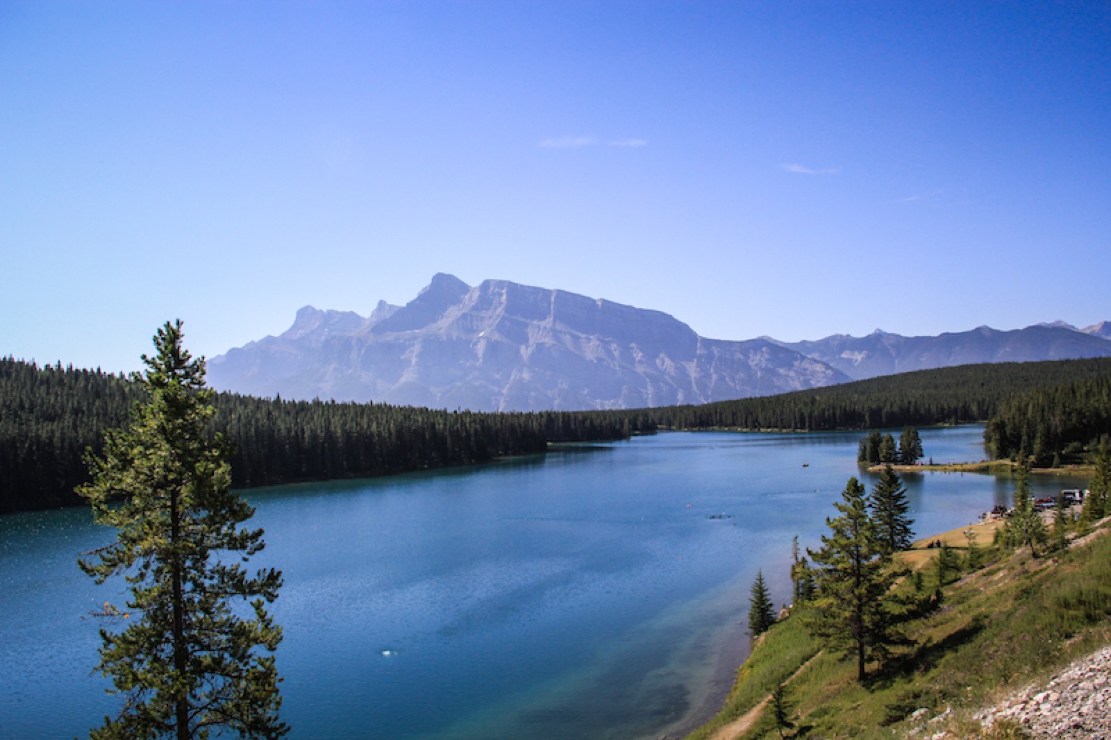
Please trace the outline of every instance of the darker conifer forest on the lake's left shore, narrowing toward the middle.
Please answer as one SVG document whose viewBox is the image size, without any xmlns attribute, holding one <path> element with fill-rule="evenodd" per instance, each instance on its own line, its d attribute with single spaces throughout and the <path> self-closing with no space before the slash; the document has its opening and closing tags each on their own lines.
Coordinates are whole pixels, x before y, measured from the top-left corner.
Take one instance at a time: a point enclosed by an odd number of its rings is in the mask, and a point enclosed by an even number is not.
<svg viewBox="0 0 1111 740">
<path fill-rule="evenodd" d="M 0 359 L 0 512 L 80 503 L 87 449 L 126 426 L 140 388 L 119 376 Z M 623 439 L 635 414 L 471 413 L 383 403 L 220 393 L 213 431 L 231 442 L 232 486 L 248 488 L 461 466 L 543 452 L 549 441 Z"/>
</svg>

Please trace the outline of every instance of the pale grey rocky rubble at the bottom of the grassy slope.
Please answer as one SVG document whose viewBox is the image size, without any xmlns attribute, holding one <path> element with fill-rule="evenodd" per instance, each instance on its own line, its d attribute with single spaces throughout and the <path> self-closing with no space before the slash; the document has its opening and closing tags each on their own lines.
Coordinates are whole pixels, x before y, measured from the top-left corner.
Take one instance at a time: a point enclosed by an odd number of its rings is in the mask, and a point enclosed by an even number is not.
<svg viewBox="0 0 1111 740">
<path fill-rule="evenodd" d="M 1010 720 L 1034 740 L 1111 738 L 1111 647 L 1075 661 L 1049 683 L 1017 691 L 975 718 L 984 728 Z"/>
</svg>

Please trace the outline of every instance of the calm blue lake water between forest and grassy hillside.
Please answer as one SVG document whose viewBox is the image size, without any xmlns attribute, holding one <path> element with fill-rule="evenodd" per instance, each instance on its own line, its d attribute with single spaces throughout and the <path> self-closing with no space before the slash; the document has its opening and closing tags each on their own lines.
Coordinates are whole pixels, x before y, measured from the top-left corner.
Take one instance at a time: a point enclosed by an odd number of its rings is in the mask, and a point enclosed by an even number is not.
<svg viewBox="0 0 1111 740">
<path fill-rule="evenodd" d="M 247 491 L 284 571 L 272 613 L 294 738 L 659 738 L 711 714 L 745 652 L 762 569 L 788 599 L 860 433 L 664 433 L 373 480 Z M 981 427 L 922 431 L 982 459 Z M 803 463 L 808 463 L 805 467 Z M 865 483 L 873 480 L 864 476 Z M 1033 478 L 1037 496 L 1082 481 Z M 920 536 L 975 521 L 1012 482 L 907 477 Z M 725 514 L 727 518 L 711 518 Z M 117 699 L 91 669 L 98 587 L 82 509 L 0 517 L 0 738 L 83 736 Z"/>
</svg>

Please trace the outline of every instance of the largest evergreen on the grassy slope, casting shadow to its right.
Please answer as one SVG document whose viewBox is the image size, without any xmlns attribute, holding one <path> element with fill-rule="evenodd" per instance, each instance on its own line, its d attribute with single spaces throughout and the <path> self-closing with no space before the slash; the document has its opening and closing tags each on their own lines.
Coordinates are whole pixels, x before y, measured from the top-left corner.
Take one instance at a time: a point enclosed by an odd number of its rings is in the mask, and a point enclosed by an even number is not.
<svg viewBox="0 0 1111 740">
<path fill-rule="evenodd" d="M 864 487 L 850 478 L 841 498 L 833 504 L 841 516 L 825 520 L 830 534 L 822 536 L 822 548 L 808 550 L 818 583 L 808 628 L 825 647 L 854 656 L 863 681 L 868 660 L 882 661 L 889 647 L 904 640 L 888 601 L 894 574 L 877 547 Z"/>
</svg>

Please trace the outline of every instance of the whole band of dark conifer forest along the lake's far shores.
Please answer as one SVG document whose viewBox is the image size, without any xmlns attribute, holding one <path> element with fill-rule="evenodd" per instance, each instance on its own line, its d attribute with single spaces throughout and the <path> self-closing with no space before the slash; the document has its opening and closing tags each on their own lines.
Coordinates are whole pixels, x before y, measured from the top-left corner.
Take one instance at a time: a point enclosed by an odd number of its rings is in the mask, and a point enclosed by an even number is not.
<svg viewBox="0 0 1111 740">
<path fill-rule="evenodd" d="M 1111 358 L 975 364 L 705 406 L 478 413 L 220 393 L 237 488 L 358 478 L 543 452 L 658 429 L 838 430 L 989 421 L 999 457 L 1081 454 L 1109 428 Z M 0 359 L 0 512 L 72 506 L 86 450 L 140 400 L 122 376 Z"/>
</svg>

